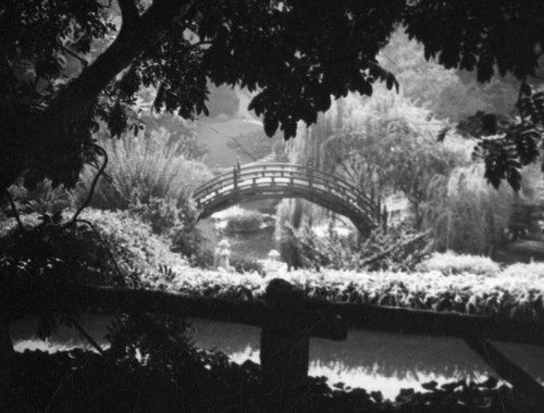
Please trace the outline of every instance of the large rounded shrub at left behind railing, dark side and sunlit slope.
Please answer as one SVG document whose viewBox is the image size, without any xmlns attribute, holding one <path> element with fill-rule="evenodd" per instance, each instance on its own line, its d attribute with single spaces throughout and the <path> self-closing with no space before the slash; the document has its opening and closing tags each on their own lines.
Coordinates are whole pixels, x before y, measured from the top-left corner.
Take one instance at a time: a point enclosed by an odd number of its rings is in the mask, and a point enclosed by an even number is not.
<svg viewBox="0 0 544 413">
<path fill-rule="evenodd" d="M 164 278 L 160 266 L 176 274 L 188 267 L 162 237 L 126 212 L 87 210 L 79 217 L 76 226 L 63 227 L 44 223 L 38 214 L 23 215 L 24 233 L 11 220 L 0 228 L 0 272 L 30 279 L 41 274 L 50 283 L 66 277 L 85 284 L 153 286 Z"/>
</svg>

